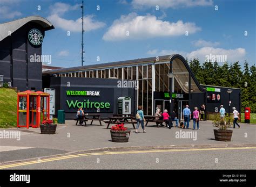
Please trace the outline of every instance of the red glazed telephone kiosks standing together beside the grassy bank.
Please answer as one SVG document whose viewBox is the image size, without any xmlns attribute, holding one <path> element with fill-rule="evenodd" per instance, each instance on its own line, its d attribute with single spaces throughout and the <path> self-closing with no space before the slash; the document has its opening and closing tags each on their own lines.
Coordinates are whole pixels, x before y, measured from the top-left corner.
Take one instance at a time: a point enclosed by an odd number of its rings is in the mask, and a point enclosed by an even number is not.
<svg viewBox="0 0 256 187">
<path fill-rule="evenodd" d="M 41 120 L 50 118 L 50 95 L 42 91 L 23 91 L 17 95 L 17 127 L 40 126 Z"/>
</svg>

